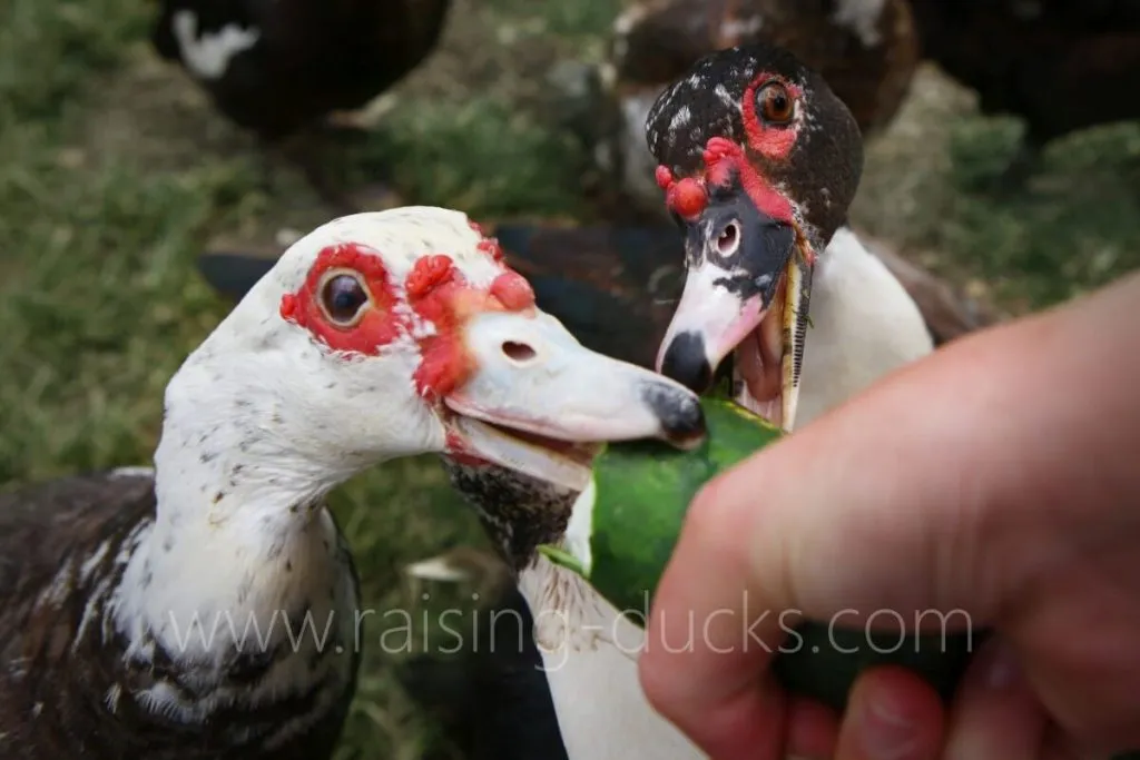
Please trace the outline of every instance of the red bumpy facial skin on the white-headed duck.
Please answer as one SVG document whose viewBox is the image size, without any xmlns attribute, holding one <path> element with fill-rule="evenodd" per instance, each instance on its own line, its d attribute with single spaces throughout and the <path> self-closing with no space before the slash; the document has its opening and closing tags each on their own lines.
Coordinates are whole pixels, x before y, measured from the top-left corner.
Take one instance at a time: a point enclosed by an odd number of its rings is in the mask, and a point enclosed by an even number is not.
<svg viewBox="0 0 1140 760">
<path fill-rule="evenodd" d="M 484 244 L 498 252 L 494 240 L 479 244 L 481 250 L 492 253 Z M 320 305 L 320 288 L 335 273 L 359 277 L 370 297 L 370 303 L 363 307 L 363 316 L 350 326 L 332 321 Z M 366 357 L 377 356 L 397 338 L 410 335 L 416 316 L 432 322 L 434 334 L 416 338 L 421 360 L 413 382 L 421 397 L 438 403 L 475 370 L 463 342 L 467 320 L 487 311 L 534 313 L 535 310 L 535 293 L 518 272 L 504 265 L 503 273 L 489 287 L 477 288 L 445 254 L 420 259 L 404 289 L 412 313 L 394 309 L 398 296 L 378 252 L 363 244 L 345 243 L 320 252 L 304 285 L 282 297 L 280 314 L 335 351 Z"/>
</svg>

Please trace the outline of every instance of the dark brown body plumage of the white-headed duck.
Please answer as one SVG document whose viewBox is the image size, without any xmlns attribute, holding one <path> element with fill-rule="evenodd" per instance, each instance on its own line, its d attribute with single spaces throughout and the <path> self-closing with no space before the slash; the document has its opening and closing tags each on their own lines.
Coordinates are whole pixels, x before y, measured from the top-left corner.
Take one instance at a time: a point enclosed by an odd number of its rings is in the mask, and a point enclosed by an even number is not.
<svg viewBox="0 0 1140 760">
<path fill-rule="evenodd" d="M 0 758 L 328 758 L 355 675 L 314 728 L 275 749 L 263 737 L 311 710 L 311 694 L 222 710 L 204 725 L 156 714 L 132 698 L 156 679 L 178 681 L 171 657 L 158 651 L 145 665 L 130 662 L 125 641 L 103 624 L 107 591 L 154 508 L 154 482 L 146 474 L 80 475 L 0 495 Z M 359 653 L 350 656 L 358 663 Z M 263 664 L 239 657 L 229 683 L 256 678 Z"/>
</svg>

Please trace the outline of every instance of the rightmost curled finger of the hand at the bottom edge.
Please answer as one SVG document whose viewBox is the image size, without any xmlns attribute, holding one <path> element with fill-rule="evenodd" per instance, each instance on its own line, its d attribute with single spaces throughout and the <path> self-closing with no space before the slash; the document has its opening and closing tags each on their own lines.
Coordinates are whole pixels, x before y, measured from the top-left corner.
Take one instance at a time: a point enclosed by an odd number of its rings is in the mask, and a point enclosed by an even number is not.
<svg viewBox="0 0 1140 760">
<path fill-rule="evenodd" d="M 1013 652 L 987 641 L 954 698 L 944 760 L 1036 760 L 1048 719 Z"/>
</svg>

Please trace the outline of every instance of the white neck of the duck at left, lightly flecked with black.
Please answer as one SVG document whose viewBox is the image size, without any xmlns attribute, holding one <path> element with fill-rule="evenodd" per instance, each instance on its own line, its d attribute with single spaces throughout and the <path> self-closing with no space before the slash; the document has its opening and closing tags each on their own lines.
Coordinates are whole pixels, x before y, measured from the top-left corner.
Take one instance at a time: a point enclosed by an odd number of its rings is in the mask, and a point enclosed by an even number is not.
<svg viewBox="0 0 1140 760">
<path fill-rule="evenodd" d="M 295 451 L 276 404 L 194 357 L 168 386 L 154 522 L 123 548 L 113 594 L 129 656 L 158 645 L 220 669 L 234 649 L 264 654 L 300 634 L 294 651 L 311 651 L 352 624 L 347 558 L 323 506 L 351 473 Z"/>
</svg>

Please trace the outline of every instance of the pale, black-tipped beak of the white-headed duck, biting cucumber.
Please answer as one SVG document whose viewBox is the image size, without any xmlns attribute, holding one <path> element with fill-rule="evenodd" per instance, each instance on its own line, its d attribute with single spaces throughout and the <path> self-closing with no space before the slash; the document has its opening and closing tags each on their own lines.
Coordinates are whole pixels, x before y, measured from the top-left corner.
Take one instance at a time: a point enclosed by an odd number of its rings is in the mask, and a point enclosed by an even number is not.
<svg viewBox="0 0 1140 760">
<path fill-rule="evenodd" d="M 605 441 L 703 440 L 697 394 L 583 346 L 549 314 L 489 311 L 464 326 L 475 365 L 445 397 L 448 453 L 583 490 Z"/>
</svg>

